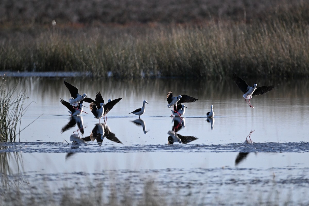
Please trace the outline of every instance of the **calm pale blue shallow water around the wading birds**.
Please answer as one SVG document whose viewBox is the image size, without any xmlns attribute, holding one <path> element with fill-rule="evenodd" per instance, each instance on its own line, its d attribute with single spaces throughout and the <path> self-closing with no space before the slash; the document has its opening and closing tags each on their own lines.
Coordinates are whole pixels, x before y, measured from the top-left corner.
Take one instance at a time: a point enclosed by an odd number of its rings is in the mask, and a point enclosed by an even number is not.
<svg viewBox="0 0 309 206">
<path fill-rule="evenodd" d="M 88 114 L 72 120 L 59 101 L 70 98 L 63 80 L 92 99 L 98 90 L 105 101 L 122 97 L 103 125 L 109 136 L 89 141 L 99 121 L 93 118 L 88 103 L 84 110 Z M 190 191 L 193 198 L 205 195 L 207 201 L 201 203 L 209 202 L 214 194 L 231 194 L 244 202 L 252 193 L 268 197 L 274 187 L 282 197 L 293 191 L 290 199 L 294 203 L 309 202 L 309 195 L 303 195 L 308 194 L 309 186 L 307 81 L 248 80 L 249 84 L 280 84 L 265 95 L 254 96 L 250 101 L 254 109 L 232 81 L 7 79 L 8 85 L 16 81 L 27 88 L 27 103 L 35 102 L 23 116 L 21 128 L 43 115 L 21 132 L 21 143 L 4 143 L 1 153 L 22 159 L 16 163 L 16 158 L 10 158 L 6 164 L 11 174 L 22 171 L 32 186 L 47 181 L 57 191 L 63 184 L 74 185 L 76 179 L 105 177 L 107 171 L 116 171 L 120 185 L 128 178 L 139 185 L 140 179 L 132 176 L 134 171 L 142 179 L 154 178 L 159 188 L 167 189 L 168 185 L 184 195 Z M 168 91 L 199 99 L 185 103 L 189 108 L 181 122 L 170 117 Z M 144 99 L 149 105 L 141 119 L 129 114 L 140 108 Z M 215 113 L 212 122 L 205 116 L 210 105 Z M 83 122 L 83 135 L 77 124 L 70 124 L 75 121 Z M 70 139 L 78 133 L 87 141 L 72 144 Z M 47 178 L 51 176 L 55 178 Z M 243 192 L 248 188 L 250 192 Z"/>
</svg>

